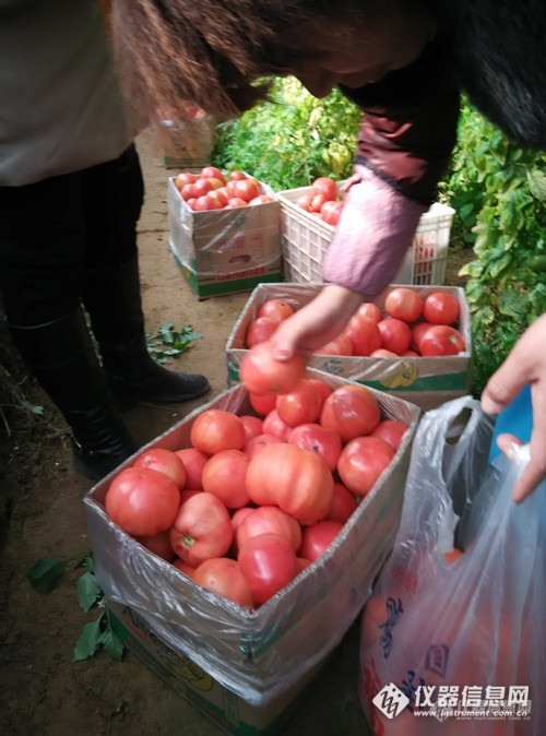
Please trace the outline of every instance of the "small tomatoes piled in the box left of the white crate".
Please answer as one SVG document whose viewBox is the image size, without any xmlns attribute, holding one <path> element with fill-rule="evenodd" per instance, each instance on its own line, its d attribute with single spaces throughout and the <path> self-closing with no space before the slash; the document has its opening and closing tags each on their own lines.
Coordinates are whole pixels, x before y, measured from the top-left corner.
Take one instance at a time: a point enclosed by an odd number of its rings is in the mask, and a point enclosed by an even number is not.
<svg viewBox="0 0 546 736">
<path fill-rule="evenodd" d="M 239 170 L 224 175 L 215 166 L 205 166 L 199 174 L 181 171 L 174 181 L 180 197 L 195 212 L 233 210 L 275 201 L 270 194 L 262 193 L 258 179 Z"/>
</svg>

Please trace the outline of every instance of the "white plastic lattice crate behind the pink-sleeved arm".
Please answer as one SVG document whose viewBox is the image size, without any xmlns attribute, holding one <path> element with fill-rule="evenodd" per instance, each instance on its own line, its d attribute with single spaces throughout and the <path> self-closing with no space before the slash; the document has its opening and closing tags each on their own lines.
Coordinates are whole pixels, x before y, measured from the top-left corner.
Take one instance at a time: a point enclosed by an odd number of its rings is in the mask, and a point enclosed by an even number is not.
<svg viewBox="0 0 546 736">
<path fill-rule="evenodd" d="M 334 234 L 332 225 L 296 204 L 300 197 L 310 191 L 310 187 L 300 187 L 277 193 L 281 202 L 284 280 L 287 282 L 301 284 L 322 281 L 322 259 Z M 422 216 L 412 246 L 393 283 L 425 286 L 443 284 L 454 213 L 451 207 L 435 202 Z"/>
</svg>

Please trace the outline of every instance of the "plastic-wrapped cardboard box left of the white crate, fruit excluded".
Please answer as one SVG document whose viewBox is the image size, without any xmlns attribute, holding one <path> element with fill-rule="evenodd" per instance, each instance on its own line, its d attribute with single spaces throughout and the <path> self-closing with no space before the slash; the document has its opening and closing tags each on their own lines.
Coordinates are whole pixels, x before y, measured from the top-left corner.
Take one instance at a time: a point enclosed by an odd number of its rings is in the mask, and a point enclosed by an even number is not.
<svg viewBox="0 0 546 736">
<path fill-rule="evenodd" d="M 261 185 L 262 193 L 274 197 Z M 170 250 L 200 299 L 281 280 L 278 202 L 193 212 L 168 180 Z"/>
</svg>

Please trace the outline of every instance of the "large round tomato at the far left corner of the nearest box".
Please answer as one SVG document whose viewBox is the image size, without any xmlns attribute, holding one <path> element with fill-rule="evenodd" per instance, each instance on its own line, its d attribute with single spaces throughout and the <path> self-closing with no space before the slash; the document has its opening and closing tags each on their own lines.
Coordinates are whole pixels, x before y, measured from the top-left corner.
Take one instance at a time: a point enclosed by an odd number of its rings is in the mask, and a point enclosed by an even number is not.
<svg viewBox="0 0 546 736">
<path fill-rule="evenodd" d="M 180 491 L 174 480 L 151 467 L 126 467 L 106 491 L 106 513 L 132 536 L 154 536 L 178 512 Z"/>
</svg>

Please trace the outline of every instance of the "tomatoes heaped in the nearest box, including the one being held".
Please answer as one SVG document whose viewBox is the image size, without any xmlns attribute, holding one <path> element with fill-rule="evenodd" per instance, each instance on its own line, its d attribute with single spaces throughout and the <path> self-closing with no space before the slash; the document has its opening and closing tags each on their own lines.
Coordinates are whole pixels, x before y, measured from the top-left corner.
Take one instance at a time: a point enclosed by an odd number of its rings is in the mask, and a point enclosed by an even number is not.
<svg viewBox="0 0 546 736">
<path fill-rule="evenodd" d="M 143 451 L 105 498 L 140 544 L 251 608 L 328 549 L 407 430 L 363 385 L 305 378 L 299 356 L 253 357 L 241 364 L 251 413 L 204 408 L 189 447 Z"/>
</svg>

